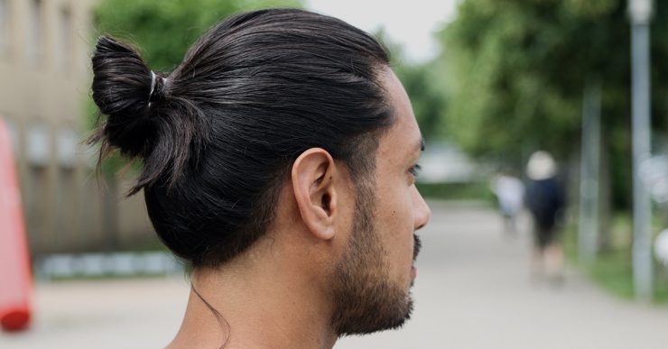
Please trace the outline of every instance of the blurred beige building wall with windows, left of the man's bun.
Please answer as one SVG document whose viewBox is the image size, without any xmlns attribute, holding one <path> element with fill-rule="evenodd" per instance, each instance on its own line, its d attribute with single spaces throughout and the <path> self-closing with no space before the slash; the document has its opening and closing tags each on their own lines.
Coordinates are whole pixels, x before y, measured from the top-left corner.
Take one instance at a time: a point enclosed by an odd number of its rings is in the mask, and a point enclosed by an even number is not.
<svg viewBox="0 0 668 349">
<path fill-rule="evenodd" d="M 94 152 L 81 144 L 91 124 L 86 101 L 94 3 L 0 0 L 0 115 L 13 135 L 36 255 L 154 239 L 143 196 L 119 205 L 130 181 L 98 179 Z"/>
</svg>

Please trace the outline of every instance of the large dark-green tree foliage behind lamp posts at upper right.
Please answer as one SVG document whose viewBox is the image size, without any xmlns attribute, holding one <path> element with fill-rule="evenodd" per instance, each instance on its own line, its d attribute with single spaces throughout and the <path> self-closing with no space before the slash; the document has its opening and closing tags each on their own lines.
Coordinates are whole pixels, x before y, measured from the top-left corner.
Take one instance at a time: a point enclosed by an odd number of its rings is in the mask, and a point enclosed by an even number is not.
<svg viewBox="0 0 668 349">
<path fill-rule="evenodd" d="M 668 5 L 652 25 L 653 115 L 668 105 Z M 474 155 L 520 163 L 545 149 L 580 150 L 581 105 L 601 86 L 604 156 L 617 207 L 629 205 L 630 30 L 622 0 L 464 0 L 440 33 L 450 135 Z"/>
</svg>

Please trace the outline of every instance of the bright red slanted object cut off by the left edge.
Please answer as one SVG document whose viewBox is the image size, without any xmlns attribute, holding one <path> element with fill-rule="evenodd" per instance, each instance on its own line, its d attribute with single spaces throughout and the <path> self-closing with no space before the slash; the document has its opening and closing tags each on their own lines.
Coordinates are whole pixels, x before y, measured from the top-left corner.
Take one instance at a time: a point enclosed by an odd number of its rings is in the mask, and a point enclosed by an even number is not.
<svg viewBox="0 0 668 349">
<path fill-rule="evenodd" d="M 32 279 L 16 180 L 12 142 L 0 117 L 0 325 L 6 331 L 28 327 Z"/>
</svg>

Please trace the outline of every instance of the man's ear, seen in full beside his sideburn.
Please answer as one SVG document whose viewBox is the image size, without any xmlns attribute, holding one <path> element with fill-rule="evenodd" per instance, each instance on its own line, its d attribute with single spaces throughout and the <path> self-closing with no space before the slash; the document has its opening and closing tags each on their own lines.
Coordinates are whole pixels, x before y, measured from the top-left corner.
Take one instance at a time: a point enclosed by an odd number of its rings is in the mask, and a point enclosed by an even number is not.
<svg viewBox="0 0 668 349">
<path fill-rule="evenodd" d="M 311 234 L 323 240 L 335 234 L 336 179 L 336 164 L 329 152 L 321 148 L 302 152 L 292 165 L 292 190 L 302 221 Z"/>
</svg>

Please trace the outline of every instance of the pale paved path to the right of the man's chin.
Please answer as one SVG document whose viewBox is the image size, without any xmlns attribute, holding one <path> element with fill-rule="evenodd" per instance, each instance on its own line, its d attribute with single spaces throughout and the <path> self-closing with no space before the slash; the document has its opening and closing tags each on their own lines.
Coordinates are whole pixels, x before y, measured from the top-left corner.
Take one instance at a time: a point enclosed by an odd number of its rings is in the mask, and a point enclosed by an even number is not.
<svg viewBox="0 0 668 349">
<path fill-rule="evenodd" d="M 668 308 L 611 298 L 574 271 L 561 289 L 532 283 L 525 222 L 509 239 L 492 211 L 431 207 L 413 320 L 400 332 L 345 338 L 336 348 L 668 348 Z"/>
</svg>

